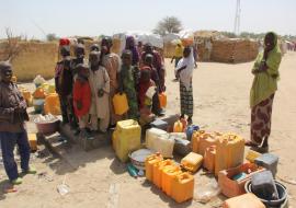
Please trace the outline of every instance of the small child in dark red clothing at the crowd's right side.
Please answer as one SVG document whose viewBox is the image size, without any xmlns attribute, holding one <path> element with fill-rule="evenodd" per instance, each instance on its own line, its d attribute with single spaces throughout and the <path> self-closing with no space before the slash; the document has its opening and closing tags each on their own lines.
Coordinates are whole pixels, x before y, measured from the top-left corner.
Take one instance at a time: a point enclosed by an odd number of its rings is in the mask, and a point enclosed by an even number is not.
<svg viewBox="0 0 296 208">
<path fill-rule="evenodd" d="M 151 80 L 150 70 L 144 69 L 140 71 L 140 79 L 138 84 L 138 101 L 140 108 L 140 124 L 145 125 L 155 119 L 151 113 L 152 100 L 147 96 L 147 91 L 150 88 L 156 88 L 155 82 Z"/>
</svg>

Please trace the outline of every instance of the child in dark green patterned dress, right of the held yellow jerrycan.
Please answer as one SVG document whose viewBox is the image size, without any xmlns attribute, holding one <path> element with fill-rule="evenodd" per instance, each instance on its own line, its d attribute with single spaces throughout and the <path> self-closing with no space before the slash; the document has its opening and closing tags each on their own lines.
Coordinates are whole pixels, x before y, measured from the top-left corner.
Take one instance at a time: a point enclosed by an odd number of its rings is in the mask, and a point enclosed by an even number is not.
<svg viewBox="0 0 296 208">
<path fill-rule="evenodd" d="M 122 55 L 122 70 L 118 72 L 119 93 L 125 93 L 128 101 L 127 116 L 129 119 L 138 119 L 138 101 L 135 89 L 137 71 L 132 66 L 132 51 L 124 50 Z"/>
</svg>

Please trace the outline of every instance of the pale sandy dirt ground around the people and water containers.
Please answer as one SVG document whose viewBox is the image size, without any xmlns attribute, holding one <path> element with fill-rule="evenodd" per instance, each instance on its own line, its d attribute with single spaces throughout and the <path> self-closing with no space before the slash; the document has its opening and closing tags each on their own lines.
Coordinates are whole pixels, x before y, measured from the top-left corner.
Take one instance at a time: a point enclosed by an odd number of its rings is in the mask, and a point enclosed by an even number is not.
<svg viewBox="0 0 296 208">
<path fill-rule="evenodd" d="M 274 100 L 271 152 L 280 157 L 281 178 L 296 181 L 296 53 L 288 53 L 281 63 L 281 81 Z M 179 113 L 179 83 L 172 82 L 173 68 L 166 60 L 168 111 Z M 204 129 L 234 131 L 244 138 L 250 134 L 249 91 L 252 83 L 252 62 L 226 65 L 200 62 L 194 71 L 194 124 Z M 34 132 L 34 125 L 29 125 Z M 178 205 L 161 190 L 133 178 L 114 155 L 111 147 L 84 152 L 77 145 L 68 145 L 64 159 L 53 157 L 44 147 L 32 154 L 32 164 L 39 175 L 27 175 L 18 192 L 4 194 L 8 186 L 0 165 L 0 207 L 2 208 L 73 208 L 73 207 L 218 207 L 219 196 L 207 205 L 196 200 Z M 210 178 L 195 175 L 195 192 L 203 189 Z M 60 196 L 57 185 L 62 181 L 70 192 Z M 296 186 L 284 183 L 289 204 L 296 206 Z"/>
</svg>

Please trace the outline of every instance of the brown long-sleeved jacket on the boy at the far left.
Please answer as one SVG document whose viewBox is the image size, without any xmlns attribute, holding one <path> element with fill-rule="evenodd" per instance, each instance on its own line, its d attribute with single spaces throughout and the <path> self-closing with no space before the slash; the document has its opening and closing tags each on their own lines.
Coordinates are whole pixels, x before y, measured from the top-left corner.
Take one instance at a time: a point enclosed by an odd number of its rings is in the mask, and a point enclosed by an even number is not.
<svg viewBox="0 0 296 208">
<path fill-rule="evenodd" d="M 0 82 L 0 131 L 22 132 L 25 129 L 24 122 L 29 120 L 29 115 L 15 113 L 18 106 L 26 107 L 26 103 L 16 84 Z"/>
</svg>

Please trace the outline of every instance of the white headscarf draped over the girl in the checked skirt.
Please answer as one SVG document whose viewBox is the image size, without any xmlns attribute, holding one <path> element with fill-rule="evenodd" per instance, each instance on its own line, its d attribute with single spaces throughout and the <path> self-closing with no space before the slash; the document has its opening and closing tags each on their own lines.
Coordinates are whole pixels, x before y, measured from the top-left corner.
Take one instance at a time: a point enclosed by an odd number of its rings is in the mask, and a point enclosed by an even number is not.
<svg viewBox="0 0 296 208">
<path fill-rule="evenodd" d="M 180 81 L 182 82 L 182 84 L 184 84 L 184 86 L 186 88 L 186 90 L 190 89 L 190 84 L 191 84 L 191 80 L 192 80 L 192 73 L 194 70 L 194 57 L 193 57 L 193 48 L 192 47 L 187 47 L 185 49 L 190 49 L 190 55 L 189 57 L 183 57 L 177 65 L 175 71 L 178 71 L 180 68 L 186 66 L 185 69 L 183 69 L 180 72 Z M 184 50 L 185 50 L 184 49 Z"/>
</svg>

